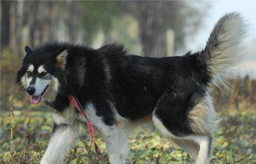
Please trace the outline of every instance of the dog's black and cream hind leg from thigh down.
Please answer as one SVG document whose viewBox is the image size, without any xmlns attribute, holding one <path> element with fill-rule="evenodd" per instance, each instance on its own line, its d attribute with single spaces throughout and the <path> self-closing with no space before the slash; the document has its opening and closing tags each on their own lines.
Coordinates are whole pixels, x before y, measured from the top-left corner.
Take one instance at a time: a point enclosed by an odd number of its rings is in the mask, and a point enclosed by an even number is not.
<svg viewBox="0 0 256 164">
<path fill-rule="evenodd" d="M 153 112 L 155 127 L 193 156 L 196 164 L 209 164 L 212 138 L 218 120 L 209 94 L 192 109 L 184 106 L 185 100 L 168 99 L 165 93 Z M 192 141 L 192 142 L 191 142 Z"/>
</svg>

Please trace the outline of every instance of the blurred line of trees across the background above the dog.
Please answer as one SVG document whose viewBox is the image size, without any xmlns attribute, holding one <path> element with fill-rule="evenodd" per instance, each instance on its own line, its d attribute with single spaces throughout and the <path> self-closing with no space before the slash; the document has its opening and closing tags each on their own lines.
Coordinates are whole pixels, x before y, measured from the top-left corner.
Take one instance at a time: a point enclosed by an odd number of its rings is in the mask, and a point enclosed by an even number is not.
<svg viewBox="0 0 256 164">
<path fill-rule="evenodd" d="M 163 57 L 167 30 L 175 32 L 175 50 L 180 49 L 185 36 L 195 33 L 202 12 L 186 1 L 1 1 L 1 46 L 15 49 L 22 40 L 32 47 L 54 40 L 91 46 L 99 32 L 108 44 L 130 37 L 127 33 L 133 32 L 125 31 L 129 28 L 119 30 L 118 36 L 112 32 L 121 24 L 127 26 L 123 20 L 133 17 L 128 21 L 138 22 L 136 39 L 141 41 L 143 55 Z M 131 42 L 126 45 L 138 45 Z"/>
</svg>

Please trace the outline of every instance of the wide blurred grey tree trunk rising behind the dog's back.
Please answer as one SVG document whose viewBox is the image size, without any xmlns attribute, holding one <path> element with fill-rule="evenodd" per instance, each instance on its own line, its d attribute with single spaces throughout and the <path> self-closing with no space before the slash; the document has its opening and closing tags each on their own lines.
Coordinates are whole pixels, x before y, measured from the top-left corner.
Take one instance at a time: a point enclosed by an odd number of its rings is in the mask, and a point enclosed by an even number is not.
<svg viewBox="0 0 256 164">
<path fill-rule="evenodd" d="M 138 1 L 139 26 L 144 56 L 165 57 L 166 50 L 166 30 L 163 26 L 161 16 L 162 3 L 155 1 Z"/>
</svg>

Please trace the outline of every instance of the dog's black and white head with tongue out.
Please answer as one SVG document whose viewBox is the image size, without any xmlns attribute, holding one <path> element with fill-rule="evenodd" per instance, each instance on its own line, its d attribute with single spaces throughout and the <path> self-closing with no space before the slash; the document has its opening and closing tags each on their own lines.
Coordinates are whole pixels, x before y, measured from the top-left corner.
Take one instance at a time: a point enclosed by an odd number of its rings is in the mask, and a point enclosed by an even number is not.
<svg viewBox="0 0 256 164">
<path fill-rule="evenodd" d="M 17 73 L 17 83 L 26 90 L 31 104 L 38 104 L 41 99 L 53 102 L 59 92 L 60 81 L 63 81 L 60 77 L 64 77 L 66 48 L 44 47 L 31 50 L 26 46 L 25 51 L 22 66 Z"/>
</svg>

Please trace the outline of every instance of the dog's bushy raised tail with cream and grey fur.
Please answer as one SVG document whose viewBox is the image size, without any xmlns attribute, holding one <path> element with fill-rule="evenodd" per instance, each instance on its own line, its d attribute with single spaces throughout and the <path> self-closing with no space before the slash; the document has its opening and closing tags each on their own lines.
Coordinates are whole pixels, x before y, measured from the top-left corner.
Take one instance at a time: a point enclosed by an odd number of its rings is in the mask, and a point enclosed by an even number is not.
<svg viewBox="0 0 256 164">
<path fill-rule="evenodd" d="M 215 25 L 202 54 L 211 82 L 228 88 L 233 77 L 230 69 L 237 68 L 245 59 L 247 45 L 247 26 L 240 13 L 228 13 Z"/>
</svg>

